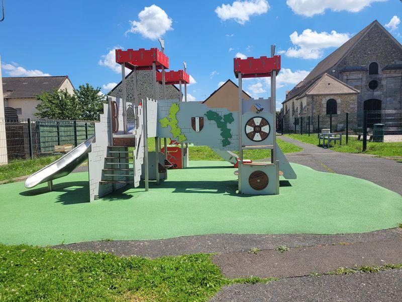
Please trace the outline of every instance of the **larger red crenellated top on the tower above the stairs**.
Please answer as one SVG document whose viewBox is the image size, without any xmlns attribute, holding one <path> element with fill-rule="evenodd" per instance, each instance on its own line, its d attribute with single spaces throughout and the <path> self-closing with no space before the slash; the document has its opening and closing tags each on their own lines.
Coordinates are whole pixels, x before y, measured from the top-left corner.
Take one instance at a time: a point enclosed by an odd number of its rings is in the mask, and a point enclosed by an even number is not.
<svg viewBox="0 0 402 302">
<path fill-rule="evenodd" d="M 169 68 L 169 58 L 161 52 L 158 48 L 151 48 L 149 50 L 140 48 L 133 49 L 116 49 L 116 63 L 130 63 L 138 66 L 138 70 L 152 69 L 152 63 L 155 62 L 156 68 L 161 69 L 162 66 Z M 133 69 L 129 64 L 126 67 Z"/>
</svg>

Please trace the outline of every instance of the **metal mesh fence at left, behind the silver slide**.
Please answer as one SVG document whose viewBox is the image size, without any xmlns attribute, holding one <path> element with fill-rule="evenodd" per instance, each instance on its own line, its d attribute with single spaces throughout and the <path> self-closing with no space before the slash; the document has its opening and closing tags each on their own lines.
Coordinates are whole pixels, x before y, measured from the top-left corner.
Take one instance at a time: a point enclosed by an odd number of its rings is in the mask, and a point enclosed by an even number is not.
<svg viewBox="0 0 402 302">
<path fill-rule="evenodd" d="M 4 124 L 7 158 L 33 159 L 63 154 L 92 136 L 94 122 L 75 120 L 0 119 Z"/>
</svg>

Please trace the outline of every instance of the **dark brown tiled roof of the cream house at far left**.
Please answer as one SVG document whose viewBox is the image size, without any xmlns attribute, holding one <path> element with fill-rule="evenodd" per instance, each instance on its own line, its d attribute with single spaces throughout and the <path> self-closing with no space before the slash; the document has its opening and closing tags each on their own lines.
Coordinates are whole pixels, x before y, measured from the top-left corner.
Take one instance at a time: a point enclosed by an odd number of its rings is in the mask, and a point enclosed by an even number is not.
<svg viewBox="0 0 402 302">
<path fill-rule="evenodd" d="M 66 80 L 70 81 L 68 75 L 58 77 L 6 77 L 3 78 L 3 96 L 5 98 L 35 98 L 38 94 L 58 90 Z"/>
</svg>

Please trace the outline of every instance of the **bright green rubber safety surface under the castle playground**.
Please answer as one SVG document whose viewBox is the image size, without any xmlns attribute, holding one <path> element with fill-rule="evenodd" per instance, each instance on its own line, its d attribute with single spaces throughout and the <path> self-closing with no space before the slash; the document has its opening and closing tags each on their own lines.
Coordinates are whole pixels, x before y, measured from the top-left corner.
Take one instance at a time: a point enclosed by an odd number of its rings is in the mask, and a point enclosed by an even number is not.
<svg viewBox="0 0 402 302">
<path fill-rule="evenodd" d="M 190 162 L 149 192 L 126 187 L 87 202 L 88 174 L 26 189 L 0 186 L 0 242 L 56 245 L 102 239 L 147 240 L 204 234 L 337 234 L 395 228 L 402 196 L 366 180 L 292 164 L 280 194 L 236 193 L 226 162 Z"/>
</svg>

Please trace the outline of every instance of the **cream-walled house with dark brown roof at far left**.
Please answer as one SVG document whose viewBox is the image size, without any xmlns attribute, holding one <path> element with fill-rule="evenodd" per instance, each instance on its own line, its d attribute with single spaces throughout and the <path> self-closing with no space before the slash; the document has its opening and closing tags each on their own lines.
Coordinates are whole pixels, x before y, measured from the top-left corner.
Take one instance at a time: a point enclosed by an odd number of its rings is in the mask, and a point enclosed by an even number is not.
<svg viewBox="0 0 402 302">
<path fill-rule="evenodd" d="M 36 96 L 54 90 L 67 90 L 73 94 L 75 89 L 68 75 L 59 77 L 13 77 L 3 78 L 4 107 L 17 110 L 19 118 L 37 118 L 36 106 L 39 101 Z"/>
</svg>

